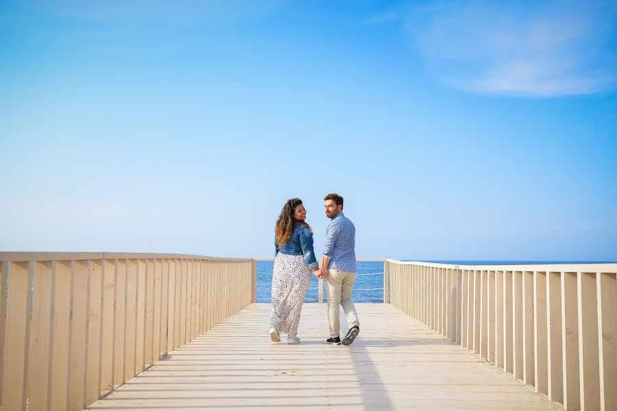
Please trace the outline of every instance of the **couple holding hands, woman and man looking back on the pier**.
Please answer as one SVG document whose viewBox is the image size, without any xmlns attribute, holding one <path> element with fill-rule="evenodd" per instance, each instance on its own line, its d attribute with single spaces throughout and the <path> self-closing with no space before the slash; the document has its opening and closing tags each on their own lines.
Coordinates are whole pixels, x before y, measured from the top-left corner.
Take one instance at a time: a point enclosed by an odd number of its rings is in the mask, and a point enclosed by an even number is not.
<svg viewBox="0 0 617 411">
<path fill-rule="evenodd" d="M 313 250 L 313 229 L 306 223 L 306 208 L 301 199 L 285 202 L 274 226 L 276 258 L 272 273 L 272 314 L 270 338 L 280 341 L 287 334 L 287 343 L 298 344 L 298 324 L 304 295 L 311 284 L 311 270 L 317 278 L 326 280 L 330 338 L 326 343 L 350 345 L 360 332 L 360 323 L 352 288 L 356 281 L 356 227 L 343 214 L 343 197 L 332 193 L 324 198 L 326 216 L 331 220 L 326 229 L 324 260 L 319 268 Z M 349 330 L 341 340 L 339 306 L 347 317 Z"/>
</svg>

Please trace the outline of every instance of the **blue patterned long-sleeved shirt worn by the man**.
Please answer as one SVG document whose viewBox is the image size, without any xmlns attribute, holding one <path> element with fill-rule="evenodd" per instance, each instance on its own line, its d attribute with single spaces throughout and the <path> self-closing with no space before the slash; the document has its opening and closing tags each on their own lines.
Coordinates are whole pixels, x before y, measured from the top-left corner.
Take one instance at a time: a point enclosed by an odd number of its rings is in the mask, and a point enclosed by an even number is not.
<svg viewBox="0 0 617 411">
<path fill-rule="evenodd" d="M 356 227 L 342 212 L 337 214 L 328 229 L 324 256 L 330 258 L 328 269 L 356 272 Z"/>
</svg>

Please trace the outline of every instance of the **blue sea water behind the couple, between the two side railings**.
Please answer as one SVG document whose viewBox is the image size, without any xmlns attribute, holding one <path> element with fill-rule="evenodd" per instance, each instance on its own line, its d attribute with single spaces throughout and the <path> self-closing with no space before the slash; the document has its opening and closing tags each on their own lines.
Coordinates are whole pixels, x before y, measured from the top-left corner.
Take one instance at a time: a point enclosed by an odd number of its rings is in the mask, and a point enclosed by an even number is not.
<svg viewBox="0 0 617 411">
<path fill-rule="evenodd" d="M 383 303 L 383 262 L 359 261 L 358 274 L 352 292 L 352 300 L 356 303 Z M 257 302 L 270 303 L 272 290 L 272 269 L 274 261 L 257 262 Z M 317 277 L 313 275 L 309 291 L 304 297 L 305 303 L 317 302 Z M 324 301 L 327 301 L 324 287 Z"/>
</svg>

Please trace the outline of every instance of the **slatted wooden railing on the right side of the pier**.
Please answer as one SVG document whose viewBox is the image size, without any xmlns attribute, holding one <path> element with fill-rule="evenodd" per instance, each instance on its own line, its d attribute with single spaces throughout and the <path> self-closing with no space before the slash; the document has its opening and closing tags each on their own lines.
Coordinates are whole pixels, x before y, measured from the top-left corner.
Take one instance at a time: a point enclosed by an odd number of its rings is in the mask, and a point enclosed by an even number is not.
<svg viewBox="0 0 617 411">
<path fill-rule="evenodd" d="M 568 410 L 617 410 L 617 264 L 384 268 L 386 303 Z"/>
</svg>

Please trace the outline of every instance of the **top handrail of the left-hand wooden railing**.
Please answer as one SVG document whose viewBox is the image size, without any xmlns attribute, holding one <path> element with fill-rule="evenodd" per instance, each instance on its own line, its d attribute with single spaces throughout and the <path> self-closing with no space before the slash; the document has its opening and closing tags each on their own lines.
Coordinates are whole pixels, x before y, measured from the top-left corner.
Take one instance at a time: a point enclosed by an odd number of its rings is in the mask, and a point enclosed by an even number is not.
<svg viewBox="0 0 617 411">
<path fill-rule="evenodd" d="M 70 260 L 113 260 L 126 258 L 129 260 L 146 260 L 153 258 L 189 258 L 191 260 L 213 261 L 251 261 L 251 258 L 226 258 L 199 256 L 195 254 L 170 253 L 88 253 L 88 252 L 49 252 L 49 251 L 0 251 L 0 262 L 25 261 L 70 261 Z"/>
</svg>

